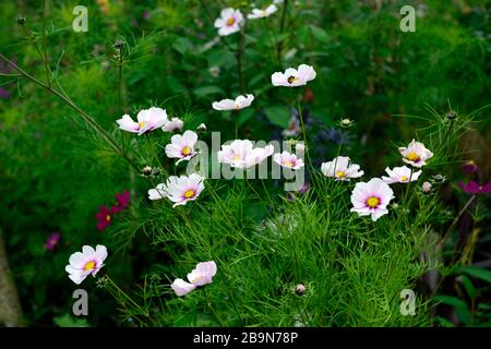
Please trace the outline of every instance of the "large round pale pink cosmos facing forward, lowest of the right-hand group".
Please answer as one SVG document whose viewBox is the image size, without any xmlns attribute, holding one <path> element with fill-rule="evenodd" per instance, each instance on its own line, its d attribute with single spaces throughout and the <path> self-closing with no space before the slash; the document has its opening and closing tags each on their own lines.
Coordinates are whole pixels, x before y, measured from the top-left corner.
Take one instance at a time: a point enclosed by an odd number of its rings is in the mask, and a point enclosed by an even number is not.
<svg viewBox="0 0 491 349">
<path fill-rule="evenodd" d="M 375 221 L 388 213 L 387 205 L 394 198 L 391 186 L 380 178 L 372 178 L 368 183 L 359 182 L 351 193 L 351 212 L 359 216 L 372 216 Z"/>
</svg>

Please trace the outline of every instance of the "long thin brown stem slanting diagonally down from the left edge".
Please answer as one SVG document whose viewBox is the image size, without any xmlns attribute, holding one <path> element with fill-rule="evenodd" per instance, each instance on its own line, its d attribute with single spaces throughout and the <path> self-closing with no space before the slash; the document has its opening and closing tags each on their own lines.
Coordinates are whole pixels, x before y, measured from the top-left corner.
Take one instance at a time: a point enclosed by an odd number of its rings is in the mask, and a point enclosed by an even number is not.
<svg viewBox="0 0 491 349">
<path fill-rule="evenodd" d="M 65 96 L 63 93 L 58 92 L 57 89 L 52 88 L 52 86 L 48 86 L 44 84 L 41 81 L 37 80 L 26 71 L 24 71 L 22 68 L 16 65 L 14 62 L 10 61 L 5 56 L 0 53 L 0 58 L 3 59 L 5 62 L 8 62 L 10 65 L 12 65 L 17 72 L 20 72 L 24 77 L 27 77 L 35 84 L 39 85 L 40 87 L 45 88 L 46 91 L 50 92 L 61 100 L 63 100 L 68 106 L 70 106 L 73 110 L 75 110 L 82 119 L 84 119 L 87 124 L 103 139 L 106 141 L 106 143 L 116 152 L 118 153 L 122 158 L 124 158 L 135 170 L 140 171 L 140 167 L 136 165 L 136 163 L 133 161 L 125 153 L 124 151 L 116 143 L 116 141 L 107 133 L 106 130 L 103 129 L 91 116 L 88 116 L 85 111 L 83 111 L 81 108 L 79 108 L 68 96 Z"/>
</svg>

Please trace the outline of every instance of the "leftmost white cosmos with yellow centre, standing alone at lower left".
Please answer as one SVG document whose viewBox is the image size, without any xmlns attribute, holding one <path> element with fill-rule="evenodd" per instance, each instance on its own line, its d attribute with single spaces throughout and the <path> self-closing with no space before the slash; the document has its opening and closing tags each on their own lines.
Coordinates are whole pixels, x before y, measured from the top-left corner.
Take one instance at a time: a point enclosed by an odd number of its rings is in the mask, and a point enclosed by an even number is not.
<svg viewBox="0 0 491 349">
<path fill-rule="evenodd" d="M 105 245 L 98 244 L 95 250 L 89 245 L 84 245 L 82 252 L 75 252 L 70 256 L 70 264 L 64 269 L 69 273 L 69 278 L 80 285 L 88 275 L 96 276 L 104 266 L 106 257 Z"/>
</svg>

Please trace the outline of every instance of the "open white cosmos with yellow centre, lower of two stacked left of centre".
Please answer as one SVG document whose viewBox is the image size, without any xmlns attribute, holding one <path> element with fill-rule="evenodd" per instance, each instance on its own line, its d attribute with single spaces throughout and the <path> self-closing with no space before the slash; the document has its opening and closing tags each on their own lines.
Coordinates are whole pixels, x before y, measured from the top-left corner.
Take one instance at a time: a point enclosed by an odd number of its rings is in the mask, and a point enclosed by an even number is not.
<svg viewBox="0 0 491 349">
<path fill-rule="evenodd" d="M 192 173 L 188 176 L 170 176 L 167 179 L 167 197 L 173 202 L 173 206 L 185 205 L 189 201 L 194 201 L 204 189 L 203 178 Z"/>
</svg>

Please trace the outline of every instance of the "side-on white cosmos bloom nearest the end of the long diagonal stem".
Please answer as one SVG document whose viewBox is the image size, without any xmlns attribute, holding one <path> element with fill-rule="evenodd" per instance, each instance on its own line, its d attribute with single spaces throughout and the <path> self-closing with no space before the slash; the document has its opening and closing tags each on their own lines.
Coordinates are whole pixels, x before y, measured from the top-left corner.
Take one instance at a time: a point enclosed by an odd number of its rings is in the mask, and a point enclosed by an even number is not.
<svg viewBox="0 0 491 349">
<path fill-rule="evenodd" d="M 166 110 L 155 107 L 140 110 L 136 115 L 136 120 L 137 122 L 133 121 L 133 119 L 125 113 L 116 122 L 121 130 L 137 133 L 139 135 L 161 128 L 168 122 Z"/>
</svg>

